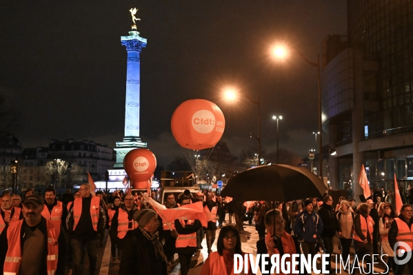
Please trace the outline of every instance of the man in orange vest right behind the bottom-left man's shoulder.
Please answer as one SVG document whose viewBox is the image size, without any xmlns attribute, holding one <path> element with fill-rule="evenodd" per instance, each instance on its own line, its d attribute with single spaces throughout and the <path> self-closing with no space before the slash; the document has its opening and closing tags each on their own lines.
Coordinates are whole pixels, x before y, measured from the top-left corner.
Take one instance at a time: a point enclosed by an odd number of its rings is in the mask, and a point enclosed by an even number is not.
<svg viewBox="0 0 413 275">
<path fill-rule="evenodd" d="M 55 221 L 57 223 L 66 224 L 66 217 L 68 216 L 68 209 L 61 201 L 56 199 L 56 190 L 52 186 L 46 188 L 45 201 L 41 216 L 47 220 Z M 67 229 L 66 229 L 67 230 Z"/>
</svg>

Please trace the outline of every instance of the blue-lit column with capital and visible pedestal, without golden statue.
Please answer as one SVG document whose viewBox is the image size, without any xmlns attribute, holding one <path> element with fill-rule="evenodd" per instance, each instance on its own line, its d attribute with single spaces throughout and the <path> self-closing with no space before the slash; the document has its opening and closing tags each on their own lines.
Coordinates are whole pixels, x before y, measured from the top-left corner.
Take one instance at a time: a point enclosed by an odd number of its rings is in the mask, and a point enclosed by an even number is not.
<svg viewBox="0 0 413 275">
<path fill-rule="evenodd" d="M 146 147 L 139 138 L 140 118 L 140 87 L 141 87 L 141 63 L 139 54 L 146 46 L 146 39 L 139 37 L 139 32 L 130 31 L 128 37 L 121 37 L 121 43 L 128 52 L 126 72 L 126 101 L 125 101 L 125 136 L 123 141 L 116 143 L 117 162 L 114 167 L 123 167 L 125 154 L 137 147 Z"/>
</svg>

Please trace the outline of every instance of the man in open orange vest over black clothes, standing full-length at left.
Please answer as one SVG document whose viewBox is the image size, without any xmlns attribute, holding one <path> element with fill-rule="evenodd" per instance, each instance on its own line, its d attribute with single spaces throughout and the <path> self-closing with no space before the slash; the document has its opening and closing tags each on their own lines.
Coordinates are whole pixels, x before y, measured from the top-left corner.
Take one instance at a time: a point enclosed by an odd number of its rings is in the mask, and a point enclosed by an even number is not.
<svg viewBox="0 0 413 275">
<path fill-rule="evenodd" d="M 87 247 L 89 273 L 92 275 L 96 271 L 99 232 L 105 227 L 106 215 L 101 205 L 101 198 L 90 194 L 88 183 L 80 186 L 79 193 L 81 197 L 74 200 L 66 218 L 73 257 L 72 274 L 83 274 L 83 259 Z"/>
</svg>

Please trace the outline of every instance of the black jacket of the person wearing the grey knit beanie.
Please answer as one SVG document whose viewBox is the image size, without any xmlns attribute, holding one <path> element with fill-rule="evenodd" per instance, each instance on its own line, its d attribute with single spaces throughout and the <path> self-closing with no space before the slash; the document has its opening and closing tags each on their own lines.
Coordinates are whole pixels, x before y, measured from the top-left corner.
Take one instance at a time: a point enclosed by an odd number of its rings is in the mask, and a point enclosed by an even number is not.
<svg viewBox="0 0 413 275">
<path fill-rule="evenodd" d="M 122 247 L 122 258 L 119 275 L 167 275 L 166 262 L 157 259 L 151 241 L 143 236 L 139 228 L 132 234 Z"/>
</svg>

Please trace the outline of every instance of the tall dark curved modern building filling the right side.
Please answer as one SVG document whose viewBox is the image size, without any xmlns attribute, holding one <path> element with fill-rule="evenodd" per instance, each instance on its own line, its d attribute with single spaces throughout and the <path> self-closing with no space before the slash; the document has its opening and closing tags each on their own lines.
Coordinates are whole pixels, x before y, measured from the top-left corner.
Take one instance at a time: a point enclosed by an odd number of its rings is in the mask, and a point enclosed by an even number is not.
<svg viewBox="0 0 413 275">
<path fill-rule="evenodd" d="M 330 183 L 357 198 L 361 165 L 370 187 L 413 181 L 413 3 L 347 0 L 347 12 L 348 35 L 323 46 L 322 116 Z"/>
</svg>

